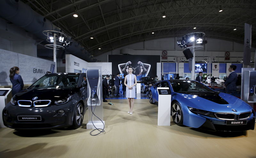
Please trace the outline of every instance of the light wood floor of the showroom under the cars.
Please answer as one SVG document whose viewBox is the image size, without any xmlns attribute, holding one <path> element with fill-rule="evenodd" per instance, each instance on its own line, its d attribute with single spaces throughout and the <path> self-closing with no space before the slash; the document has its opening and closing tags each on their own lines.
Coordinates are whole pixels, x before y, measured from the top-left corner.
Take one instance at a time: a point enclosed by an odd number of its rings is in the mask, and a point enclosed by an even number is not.
<svg viewBox="0 0 256 158">
<path fill-rule="evenodd" d="M 214 133 L 181 127 L 157 126 L 157 106 L 148 99 L 136 99 L 133 114 L 127 114 L 128 100 L 103 104 L 105 133 L 91 136 L 77 130 L 15 131 L 0 128 L 0 157 L 256 157 L 256 130 Z"/>
</svg>

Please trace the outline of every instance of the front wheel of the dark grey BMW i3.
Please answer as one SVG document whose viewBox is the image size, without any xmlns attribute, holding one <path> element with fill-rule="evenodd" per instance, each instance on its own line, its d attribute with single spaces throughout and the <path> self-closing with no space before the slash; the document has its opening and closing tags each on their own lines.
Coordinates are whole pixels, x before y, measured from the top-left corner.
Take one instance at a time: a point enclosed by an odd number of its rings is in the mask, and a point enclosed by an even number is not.
<svg viewBox="0 0 256 158">
<path fill-rule="evenodd" d="M 82 103 L 78 103 L 76 105 L 75 113 L 74 113 L 74 118 L 73 118 L 73 128 L 77 129 L 79 128 L 84 119 L 84 106 Z"/>
</svg>

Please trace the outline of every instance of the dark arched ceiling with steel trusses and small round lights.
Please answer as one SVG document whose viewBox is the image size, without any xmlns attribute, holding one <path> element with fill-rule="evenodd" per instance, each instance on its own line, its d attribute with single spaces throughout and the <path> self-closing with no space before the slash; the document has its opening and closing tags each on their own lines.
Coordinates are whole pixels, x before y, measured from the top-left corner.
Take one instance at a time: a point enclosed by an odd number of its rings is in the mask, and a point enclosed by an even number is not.
<svg viewBox="0 0 256 158">
<path fill-rule="evenodd" d="M 243 43 L 244 23 L 252 25 L 252 46 L 256 46 L 255 0 L 22 1 L 94 56 L 140 41 L 192 32 Z"/>
</svg>

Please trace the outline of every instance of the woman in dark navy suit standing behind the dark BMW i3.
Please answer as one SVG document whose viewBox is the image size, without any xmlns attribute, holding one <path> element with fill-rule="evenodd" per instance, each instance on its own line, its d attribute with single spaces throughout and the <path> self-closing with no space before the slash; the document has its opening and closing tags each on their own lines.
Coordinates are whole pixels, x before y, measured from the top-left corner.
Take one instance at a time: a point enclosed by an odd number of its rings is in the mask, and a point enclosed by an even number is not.
<svg viewBox="0 0 256 158">
<path fill-rule="evenodd" d="M 17 66 L 14 66 L 10 69 L 9 77 L 10 77 L 10 81 L 12 82 L 12 96 L 20 92 L 24 87 L 23 80 L 19 75 L 19 73 L 20 73 L 20 68 L 18 68 Z"/>
</svg>

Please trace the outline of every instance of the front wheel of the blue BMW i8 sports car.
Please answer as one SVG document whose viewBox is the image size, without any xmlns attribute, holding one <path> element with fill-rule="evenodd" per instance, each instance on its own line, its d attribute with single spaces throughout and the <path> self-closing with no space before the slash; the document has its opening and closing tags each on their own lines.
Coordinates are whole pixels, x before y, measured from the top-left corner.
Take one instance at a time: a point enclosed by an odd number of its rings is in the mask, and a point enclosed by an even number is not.
<svg viewBox="0 0 256 158">
<path fill-rule="evenodd" d="M 179 126 L 183 125 L 183 112 L 180 103 L 173 102 L 171 108 L 173 122 Z"/>
</svg>

